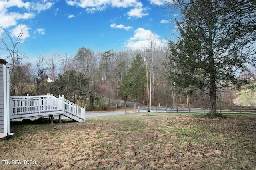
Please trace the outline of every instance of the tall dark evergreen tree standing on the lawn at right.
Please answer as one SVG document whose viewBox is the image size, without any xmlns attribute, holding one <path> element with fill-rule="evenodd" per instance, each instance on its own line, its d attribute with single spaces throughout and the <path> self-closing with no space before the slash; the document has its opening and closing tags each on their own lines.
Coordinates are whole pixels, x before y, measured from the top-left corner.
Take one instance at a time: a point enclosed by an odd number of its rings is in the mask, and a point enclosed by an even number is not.
<svg viewBox="0 0 256 170">
<path fill-rule="evenodd" d="M 176 20 L 180 39 L 168 43 L 169 80 L 179 88 L 204 90 L 209 94 L 210 114 L 219 115 L 216 93 L 229 86 L 240 86 L 238 70 L 246 69 L 252 56 L 242 36 L 232 33 L 228 18 L 220 14 L 222 0 L 177 0 Z"/>
</svg>

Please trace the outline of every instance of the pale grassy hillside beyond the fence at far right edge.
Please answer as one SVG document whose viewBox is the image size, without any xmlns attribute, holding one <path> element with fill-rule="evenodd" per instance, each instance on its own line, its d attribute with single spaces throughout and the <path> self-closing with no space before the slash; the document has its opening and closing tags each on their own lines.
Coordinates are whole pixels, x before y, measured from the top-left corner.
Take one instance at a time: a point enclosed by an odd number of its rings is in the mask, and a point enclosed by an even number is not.
<svg viewBox="0 0 256 170">
<path fill-rule="evenodd" d="M 256 106 L 256 83 L 249 86 L 252 88 L 238 92 L 239 97 L 234 100 L 234 104 L 238 106 Z"/>
</svg>

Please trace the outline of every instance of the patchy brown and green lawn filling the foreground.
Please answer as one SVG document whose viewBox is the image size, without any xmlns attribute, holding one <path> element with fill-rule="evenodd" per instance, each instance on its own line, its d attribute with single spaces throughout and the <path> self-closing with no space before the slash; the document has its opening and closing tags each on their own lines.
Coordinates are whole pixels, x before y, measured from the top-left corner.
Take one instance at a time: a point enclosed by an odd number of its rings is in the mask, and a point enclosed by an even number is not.
<svg viewBox="0 0 256 170">
<path fill-rule="evenodd" d="M 14 136 L 0 141 L 0 159 L 36 163 L 6 162 L 3 170 L 256 168 L 255 116 L 140 113 L 11 128 Z"/>
</svg>

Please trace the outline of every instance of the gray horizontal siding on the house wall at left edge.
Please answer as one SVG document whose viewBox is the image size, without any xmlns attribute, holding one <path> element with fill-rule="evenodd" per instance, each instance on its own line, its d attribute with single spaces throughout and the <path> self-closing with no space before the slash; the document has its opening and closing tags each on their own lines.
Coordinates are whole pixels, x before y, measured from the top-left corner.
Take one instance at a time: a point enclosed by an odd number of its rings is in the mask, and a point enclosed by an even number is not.
<svg viewBox="0 0 256 170">
<path fill-rule="evenodd" d="M 0 133 L 4 133 L 4 67 L 0 63 Z"/>
</svg>

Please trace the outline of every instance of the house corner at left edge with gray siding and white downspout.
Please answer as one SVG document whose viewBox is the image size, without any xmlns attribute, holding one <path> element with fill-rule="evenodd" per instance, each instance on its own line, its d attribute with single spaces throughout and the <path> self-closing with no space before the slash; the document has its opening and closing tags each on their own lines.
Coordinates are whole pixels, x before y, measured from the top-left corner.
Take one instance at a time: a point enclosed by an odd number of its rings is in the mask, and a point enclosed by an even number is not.
<svg viewBox="0 0 256 170">
<path fill-rule="evenodd" d="M 6 61 L 0 59 L 0 139 L 10 133 L 10 76 L 9 67 Z"/>
</svg>

